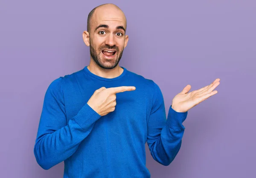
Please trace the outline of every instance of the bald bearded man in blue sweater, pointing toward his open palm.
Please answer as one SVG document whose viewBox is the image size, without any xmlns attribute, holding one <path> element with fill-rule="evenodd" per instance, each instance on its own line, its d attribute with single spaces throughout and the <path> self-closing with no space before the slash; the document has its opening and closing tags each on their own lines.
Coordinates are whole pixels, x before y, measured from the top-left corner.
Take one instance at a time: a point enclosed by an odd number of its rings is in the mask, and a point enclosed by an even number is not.
<svg viewBox="0 0 256 178">
<path fill-rule="evenodd" d="M 118 65 L 126 28 L 125 14 L 113 4 L 88 15 L 89 66 L 54 80 L 45 94 L 34 148 L 43 169 L 64 161 L 64 178 L 149 178 L 145 143 L 168 166 L 180 149 L 187 111 L 217 93 L 219 79 L 193 92 L 187 85 L 166 120 L 157 84 Z"/>
</svg>

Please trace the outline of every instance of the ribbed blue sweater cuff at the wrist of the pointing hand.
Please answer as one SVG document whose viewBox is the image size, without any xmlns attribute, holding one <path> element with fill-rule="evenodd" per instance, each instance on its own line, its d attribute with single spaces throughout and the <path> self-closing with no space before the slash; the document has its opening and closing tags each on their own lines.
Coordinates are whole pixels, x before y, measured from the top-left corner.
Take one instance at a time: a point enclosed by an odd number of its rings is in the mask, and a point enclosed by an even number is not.
<svg viewBox="0 0 256 178">
<path fill-rule="evenodd" d="M 87 130 L 100 117 L 101 115 L 99 115 L 86 103 L 74 117 L 74 120 L 79 124 L 79 126 Z"/>
</svg>

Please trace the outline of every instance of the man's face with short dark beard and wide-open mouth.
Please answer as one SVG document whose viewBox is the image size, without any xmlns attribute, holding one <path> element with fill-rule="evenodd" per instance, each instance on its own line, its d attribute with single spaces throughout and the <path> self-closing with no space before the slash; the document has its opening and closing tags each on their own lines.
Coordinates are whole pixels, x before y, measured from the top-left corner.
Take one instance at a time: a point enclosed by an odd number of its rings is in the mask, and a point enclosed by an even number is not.
<svg viewBox="0 0 256 178">
<path fill-rule="evenodd" d="M 118 9 L 96 9 L 90 25 L 90 55 L 103 69 L 113 69 L 119 63 L 127 45 L 126 19 Z"/>
</svg>

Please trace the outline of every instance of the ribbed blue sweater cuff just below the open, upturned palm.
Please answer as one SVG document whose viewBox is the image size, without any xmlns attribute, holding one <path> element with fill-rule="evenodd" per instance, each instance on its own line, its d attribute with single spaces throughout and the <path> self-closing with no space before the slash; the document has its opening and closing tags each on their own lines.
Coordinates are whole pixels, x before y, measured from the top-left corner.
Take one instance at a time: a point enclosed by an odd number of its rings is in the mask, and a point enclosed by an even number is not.
<svg viewBox="0 0 256 178">
<path fill-rule="evenodd" d="M 183 121 L 185 121 L 188 112 L 177 112 L 172 109 L 172 105 L 169 108 L 168 118 L 166 124 L 172 129 L 185 129 L 182 125 Z"/>
</svg>

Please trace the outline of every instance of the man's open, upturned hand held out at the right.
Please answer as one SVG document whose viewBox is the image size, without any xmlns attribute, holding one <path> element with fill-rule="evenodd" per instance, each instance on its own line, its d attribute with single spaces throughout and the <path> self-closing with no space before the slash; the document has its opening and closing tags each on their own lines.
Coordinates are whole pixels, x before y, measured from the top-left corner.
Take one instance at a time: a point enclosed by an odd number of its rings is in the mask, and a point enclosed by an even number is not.
<svg viewBox="0 0 256 178">
<path fill-rule="evenodd" d="M 217 90 L 213 91 L 220 84 L 220 79 L 215 79 L 210 85 L 204 86 L 201 89 L 189 92 L 190 85 L 178 93 L 172 100 L 172 109 L 177 112 L 186 112 L 192 107 L 198 105 L 202 101 L 218 93 Z"/>
</svg>

